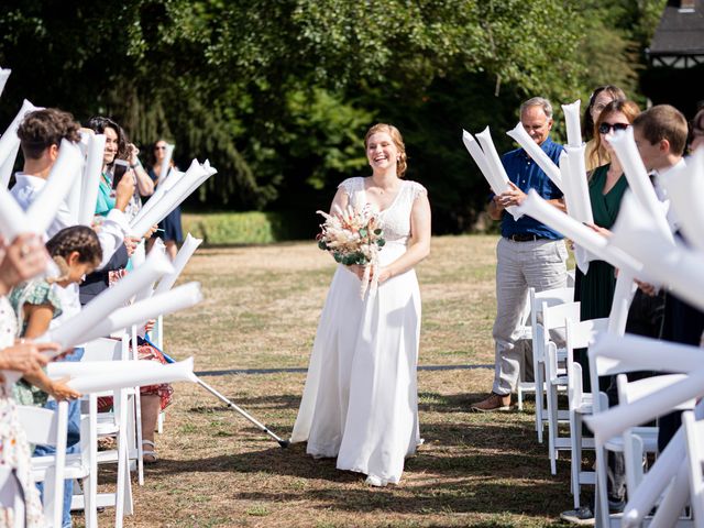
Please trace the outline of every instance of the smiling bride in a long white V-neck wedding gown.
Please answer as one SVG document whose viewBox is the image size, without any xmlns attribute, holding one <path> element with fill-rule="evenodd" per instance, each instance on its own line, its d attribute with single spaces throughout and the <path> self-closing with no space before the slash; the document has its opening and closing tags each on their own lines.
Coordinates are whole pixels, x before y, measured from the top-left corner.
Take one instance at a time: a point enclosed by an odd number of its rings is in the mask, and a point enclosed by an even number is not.
<svg viewBox="0 0 704 528">
<path fill-rule="evenodd" d="M 420 292 L 414 266 L 430 252 L 430 205 L 418 183 L 400 179 L 406 147 L 398 130 L 375 124 L 364 145 L 372 176 L 340 184 L 332 210 L 380 211 L 386 244 L 378 290 L 360 299 L 363 266 L 339 265 L 320 316 L 292 442 L 339 470 L 397 484 L 420 444 L 416 365 Z M 339 208 L 339 209 L 338 209 Z"/>
</svg>

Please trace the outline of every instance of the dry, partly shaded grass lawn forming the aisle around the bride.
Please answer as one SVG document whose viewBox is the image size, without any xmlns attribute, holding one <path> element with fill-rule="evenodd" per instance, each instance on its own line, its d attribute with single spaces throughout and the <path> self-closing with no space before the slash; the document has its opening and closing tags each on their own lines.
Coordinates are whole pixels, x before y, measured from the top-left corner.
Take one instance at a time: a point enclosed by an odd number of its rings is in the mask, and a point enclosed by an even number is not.
<svg viewBox="0 0 704 528">
<path fill-rule="evenodd" d="M 493 364 L 495 237 L 433 239 L 418 267 L 420 365 Z M 166 319 L 166 349 L 197 371 L 306 367 L 334 265 L 314 243 L 204 249 L 187 280 L 206 300 Z M 176 386 L 160 461 L 134 484 L 130 527 L 558 526 L 572 505 L 569 462 L 550 475 L 525 413 L 481 415 L 470 404 L 493 371 L 421 371 L 421 436 L 398 486 L 370 488 L 305 447 L 283 450 L 196 385 Z M 287 438 L 305 374 L 204 380 Z M 547 441 L 547 440 L 546 440 Z M 109 526 L 112 509 L 100 516 Z M 78 519 L 77 519 L 78 520 Z"/>
</svg>

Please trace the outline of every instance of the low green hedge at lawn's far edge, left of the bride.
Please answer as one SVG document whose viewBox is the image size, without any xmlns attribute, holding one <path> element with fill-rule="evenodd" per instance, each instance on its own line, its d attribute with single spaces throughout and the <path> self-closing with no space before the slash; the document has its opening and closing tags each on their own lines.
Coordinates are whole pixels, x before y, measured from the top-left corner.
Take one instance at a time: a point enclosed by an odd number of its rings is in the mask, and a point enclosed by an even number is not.
<svg viewBox="0 0 704 528">
<path fill-rule="evenodd" d="M 310 238 L 293 215 L 282 212 L 184 213 L 184 233 L 208 245 L 270 244 Z"/>
</svg>

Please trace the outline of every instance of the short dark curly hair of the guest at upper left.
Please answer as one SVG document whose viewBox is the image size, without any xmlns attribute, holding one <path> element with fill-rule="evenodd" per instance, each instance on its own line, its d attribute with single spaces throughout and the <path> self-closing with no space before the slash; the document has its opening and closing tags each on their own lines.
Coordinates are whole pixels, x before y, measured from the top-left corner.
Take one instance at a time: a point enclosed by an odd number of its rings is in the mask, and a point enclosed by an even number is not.
<svg viewBox="0 0 704 528">
<path fill-rule="evenodd" d="M 61 145 L 66 139 L 80 141 L 80 125 L 74 117 L 56 108 L 28 113 L 18 128 L 18 138 L 25 158 L 38 160 L 52 145 Z"/>
</svg>

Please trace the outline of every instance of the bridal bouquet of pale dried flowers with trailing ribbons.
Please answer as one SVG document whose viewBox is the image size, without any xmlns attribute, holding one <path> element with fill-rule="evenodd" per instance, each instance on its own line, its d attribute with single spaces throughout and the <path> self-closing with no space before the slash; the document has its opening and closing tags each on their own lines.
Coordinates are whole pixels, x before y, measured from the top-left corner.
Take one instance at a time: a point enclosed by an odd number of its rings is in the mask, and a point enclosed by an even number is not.
<svg viewBox="0 0 704 528">
<path fill-rule="evenodd" d="M 378 251 L 386 243 L 378 215 L 369 206 L 361 210 L 348 206 L 346 210 L 338 209 L 333 215 L 317 212 L 326 219 L 316 237 L 318 248 L 332 253 L 336 262 L 345 266 L 364 266 L 360 295 L 364 298 L 367 286 L 370 294 L 374 294 L 378 287 L 378 274 L 374 273 L 378 267 Z"/>
</svg>

